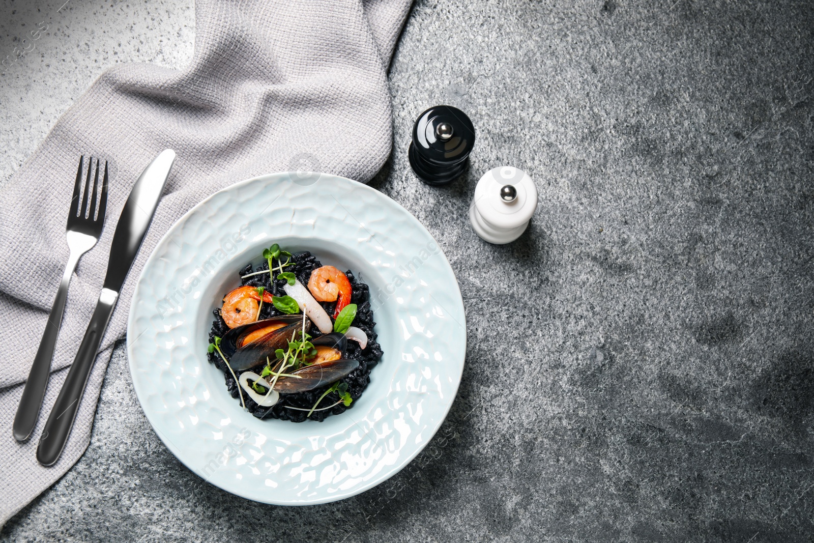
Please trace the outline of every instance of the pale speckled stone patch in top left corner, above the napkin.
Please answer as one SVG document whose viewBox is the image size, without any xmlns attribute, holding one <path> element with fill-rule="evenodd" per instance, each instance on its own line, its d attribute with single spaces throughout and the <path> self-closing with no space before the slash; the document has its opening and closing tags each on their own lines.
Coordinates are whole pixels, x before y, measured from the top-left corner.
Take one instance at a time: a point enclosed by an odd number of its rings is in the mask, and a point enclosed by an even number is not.
<svg viewBox="0 0 814 543">
<path fill-rule="evenodd" d="M 0 1 L 2 182 L 105 68 L 181 68 L 192 57 L 194 10 L 191 0 Z"/>
</svg>

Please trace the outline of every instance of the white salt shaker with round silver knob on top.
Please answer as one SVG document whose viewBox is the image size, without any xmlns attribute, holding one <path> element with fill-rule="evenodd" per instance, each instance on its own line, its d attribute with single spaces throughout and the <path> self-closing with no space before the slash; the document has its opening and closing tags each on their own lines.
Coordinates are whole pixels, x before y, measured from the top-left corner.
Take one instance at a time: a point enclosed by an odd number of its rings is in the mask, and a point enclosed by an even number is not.
<svg viewBox="0 0 814 543">
<path fill-rule="evenodd" d="M 475 186 L 469 207 L 472 229 L 489 243 L 510 243 L 526 231 L 537 207 L 537 187 L 522 169 L 490 169 Z"/>
</svg>

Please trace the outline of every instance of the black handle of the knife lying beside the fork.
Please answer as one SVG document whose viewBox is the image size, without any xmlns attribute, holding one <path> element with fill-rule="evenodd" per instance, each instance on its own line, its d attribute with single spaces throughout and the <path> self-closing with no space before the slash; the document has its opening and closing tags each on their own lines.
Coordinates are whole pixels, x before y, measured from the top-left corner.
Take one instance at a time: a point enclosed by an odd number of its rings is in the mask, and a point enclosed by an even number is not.
<svg viewBox="0 0 814 543">
<path fill-rule="evenodd" d="M 65 378 L 65 383 L 59 391 L 59 396 L 48 416 L 48 422 L 42 430 L 40 443 L 37 445 L 37 461 L 43 466 L 55 463 L 62 454 L 65 443 L 68 442 L 73 421 L 77 418 L 82 395 L 85 393 L 85 386 L 90 377 L 90 370 L 94 367 L 96 353 L 113 308 L 116 307 L 117 298 L 118 293 L 107 288 L 103 288 L 102 294 L 99 295 L 96 309 L 94 309 L 93 316 L 90 317 L 90 323 L 85 331 L 85 337 L 82 338 L 77 357 L 73 359 L 71 370 L 68 371 L 68 377 Z"/>
</svg>

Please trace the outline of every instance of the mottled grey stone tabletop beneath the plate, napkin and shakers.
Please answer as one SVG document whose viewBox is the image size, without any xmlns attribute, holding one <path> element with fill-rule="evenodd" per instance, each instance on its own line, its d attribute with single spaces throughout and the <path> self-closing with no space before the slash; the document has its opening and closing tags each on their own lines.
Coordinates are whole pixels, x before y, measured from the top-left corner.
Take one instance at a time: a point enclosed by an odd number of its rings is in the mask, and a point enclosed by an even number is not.
<svg viewBox="0 0 814 543">
<path fill-rule="evenodd" d="M 4 3 L 3 50 L 36 9 Z M 4 178 L 104 67 L 182 65 L 191 10 L 68 4 L 2 78 Z M 812 33 L 811 2 L 417 2 L 374 186 L 439 240 L 466 304 L 432 446 L 346 501 L 245 501 L 164 449 L 119 347 L 87 453 L 2 538 L 814 541 Z M 444 188 L 406 156 L 435 103 L 479 137 Z M 540 207 L 495 247 L 466 210 L 501 164 Z"/>
</svg>

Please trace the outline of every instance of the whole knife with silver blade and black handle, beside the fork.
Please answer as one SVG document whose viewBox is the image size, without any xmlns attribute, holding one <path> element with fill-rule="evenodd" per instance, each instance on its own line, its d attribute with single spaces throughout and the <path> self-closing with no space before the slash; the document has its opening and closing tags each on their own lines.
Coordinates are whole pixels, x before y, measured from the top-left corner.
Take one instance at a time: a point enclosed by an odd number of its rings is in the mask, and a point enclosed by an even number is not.
<svg viewBox="0 0 814 543">
<path fill-rule="evenodd" d="M 133 265 L 138 247 L 141 247 L 144 234 L 147 234 L 147 227 L 158 207 L 174 161 L 175 151 L 161 151 L 138 177 L 125 208 L 121 210 L 107 261 L 107 276 L 96 309 L 37 445 L 37 460 L 43 466 L 54 464 L 68 441 L 107 322 L 116 308 L 119 291 Z"/>
</svg>

